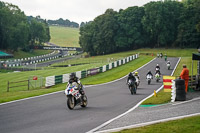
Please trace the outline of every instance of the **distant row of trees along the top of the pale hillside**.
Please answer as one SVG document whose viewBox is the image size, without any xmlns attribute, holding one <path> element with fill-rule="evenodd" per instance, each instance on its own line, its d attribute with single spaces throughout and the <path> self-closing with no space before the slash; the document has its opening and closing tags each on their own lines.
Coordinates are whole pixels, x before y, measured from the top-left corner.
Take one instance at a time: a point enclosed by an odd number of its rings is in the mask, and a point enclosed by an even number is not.
<svg viewBox="0 0 200 133">
<path fill-rule="evenodd" d="M 76 22 L 70 22 L 68 19 L 63 20 L 62 18 L 58 20 L 48 20 L 49 25 L 58 25 L 58 26 L 66 26 L 66 27 L 75 27 L 79 28 L 79 24 Z"/>
</svg>

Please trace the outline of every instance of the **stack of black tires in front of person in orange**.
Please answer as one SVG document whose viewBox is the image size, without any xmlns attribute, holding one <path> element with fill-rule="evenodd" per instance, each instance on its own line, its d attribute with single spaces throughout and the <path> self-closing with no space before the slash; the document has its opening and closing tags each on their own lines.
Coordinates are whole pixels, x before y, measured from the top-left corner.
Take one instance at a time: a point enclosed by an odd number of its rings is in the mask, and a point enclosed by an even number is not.
<svg viewBox="0 0 200 133">
<path fill-rule="evenodd" d="M 185 101 L 186 100 L 185 80 L 176 79 L 175 86 L 176 86 L 176 101 Z"/>
</svg>

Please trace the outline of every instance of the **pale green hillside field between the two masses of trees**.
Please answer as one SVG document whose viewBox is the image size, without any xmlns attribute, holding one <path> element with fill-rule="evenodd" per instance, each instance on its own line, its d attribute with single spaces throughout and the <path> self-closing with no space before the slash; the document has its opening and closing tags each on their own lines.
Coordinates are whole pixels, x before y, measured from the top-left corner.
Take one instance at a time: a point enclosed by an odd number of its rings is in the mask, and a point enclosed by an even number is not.
<svg viewBox="0 0 200 133">
<path fill-rule="evenodd" d="M 80 47 L 79 29 L 61 26 L 50 26 L 50 42 L 62 47 Z"/>
</svg>

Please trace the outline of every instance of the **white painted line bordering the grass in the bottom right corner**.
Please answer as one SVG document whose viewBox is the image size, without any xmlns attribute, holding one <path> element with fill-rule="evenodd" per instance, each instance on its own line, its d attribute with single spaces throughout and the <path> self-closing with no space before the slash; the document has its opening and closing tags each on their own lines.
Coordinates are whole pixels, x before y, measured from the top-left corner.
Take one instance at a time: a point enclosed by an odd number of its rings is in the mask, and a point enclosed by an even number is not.
<svg viewBox="0 0 200 133">
<path fill-rule="evenodd" d="M 167 121 L 172 121 L 172 120 L 177 120 L 177 119 L 182 119 L 182 118 L 192 117 L 192 116 L 198 116 L 198 115 L 200 115 L 200 113 L 171 117 L 171 118 L 161 119 L 161 120 L 157 120 L 157 121 L 151 121 L 151 122 L 140 123 L 140 124 L 125 126 L 125 127 L 120 127 L 120 128 L 98 131 L 98 132 L 95 132 L 95 133 L 117 132 L 117 131 L 121 131 L 121 130 L 124 130 L 124 129 L 132 129 L 132 128 L 137 128 L 137 127 L 143 127 L 143 126 L 148 126 L 148 125 L 152 125 L 152 124 L 156 124 L 156 123 L 167 122 Z"/>
</svg>

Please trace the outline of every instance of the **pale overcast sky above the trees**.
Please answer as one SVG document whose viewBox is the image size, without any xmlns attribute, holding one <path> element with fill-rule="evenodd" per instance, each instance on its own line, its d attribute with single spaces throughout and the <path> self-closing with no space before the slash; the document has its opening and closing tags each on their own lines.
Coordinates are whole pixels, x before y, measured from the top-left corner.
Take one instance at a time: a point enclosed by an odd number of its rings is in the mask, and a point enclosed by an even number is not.
<svg viewBox="0 0 200 133">
<path fill-rule="evenodd" d="M 27 16 L 43 19 L 68 19 L 77 23 L 88 22 L 103 14 L 106 9 L 115 11 L 131 6 L 143 6 L 158 0 L 0 0 L 17 5 Z"/>
</svg>

